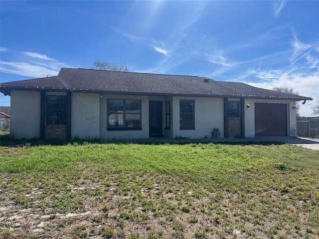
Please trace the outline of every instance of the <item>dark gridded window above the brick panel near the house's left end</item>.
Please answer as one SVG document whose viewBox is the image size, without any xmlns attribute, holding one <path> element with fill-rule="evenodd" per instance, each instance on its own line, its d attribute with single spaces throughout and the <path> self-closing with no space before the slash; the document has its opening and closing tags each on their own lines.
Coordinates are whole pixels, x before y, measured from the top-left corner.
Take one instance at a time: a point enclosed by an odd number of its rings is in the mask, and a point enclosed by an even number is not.
<svg viewBox="0 0 319 239">
<path fill-rule="evenodd" d="M 46 124 L 66 124 L 66 96 L 46 96 Z"/>
</svg>

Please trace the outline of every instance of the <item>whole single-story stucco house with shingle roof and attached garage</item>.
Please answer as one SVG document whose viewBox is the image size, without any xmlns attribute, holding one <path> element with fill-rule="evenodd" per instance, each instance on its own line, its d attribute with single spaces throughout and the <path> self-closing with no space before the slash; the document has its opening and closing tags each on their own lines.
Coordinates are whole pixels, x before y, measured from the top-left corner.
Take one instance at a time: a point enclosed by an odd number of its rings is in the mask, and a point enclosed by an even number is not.
<svg viewBox="0 0 319 239">
<path fill-rule="evenodd" d="M 11 136 L 44 139 L 296 136 L 296 101 L 312 100 L 205 77 L 70 68 L 0 92 L 11 97 Z"/>
</svg>

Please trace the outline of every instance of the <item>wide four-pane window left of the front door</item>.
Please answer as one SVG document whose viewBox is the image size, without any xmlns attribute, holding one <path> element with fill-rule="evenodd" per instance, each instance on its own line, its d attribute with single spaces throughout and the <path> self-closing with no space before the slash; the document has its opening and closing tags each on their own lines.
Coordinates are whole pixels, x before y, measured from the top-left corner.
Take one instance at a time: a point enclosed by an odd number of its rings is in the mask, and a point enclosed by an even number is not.
<svg viewBox="0 0 319 239">
<path fill-rule="evenodd" d="M 108 130 L 141 129 L 140 100 L 108 100 Z"/>
</svg>

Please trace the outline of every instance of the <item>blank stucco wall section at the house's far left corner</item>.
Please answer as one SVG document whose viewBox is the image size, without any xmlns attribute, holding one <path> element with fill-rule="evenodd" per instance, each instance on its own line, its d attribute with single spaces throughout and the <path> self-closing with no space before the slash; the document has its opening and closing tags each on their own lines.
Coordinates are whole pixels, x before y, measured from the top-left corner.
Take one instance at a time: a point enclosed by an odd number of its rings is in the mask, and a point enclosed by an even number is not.
<svg viewBox="0 0 319 239">
<path fill-rule="evenodd" d="M 15 138 L 40 137 L 40 92 L 11 91 L 10 134 Z"/>
</svg>

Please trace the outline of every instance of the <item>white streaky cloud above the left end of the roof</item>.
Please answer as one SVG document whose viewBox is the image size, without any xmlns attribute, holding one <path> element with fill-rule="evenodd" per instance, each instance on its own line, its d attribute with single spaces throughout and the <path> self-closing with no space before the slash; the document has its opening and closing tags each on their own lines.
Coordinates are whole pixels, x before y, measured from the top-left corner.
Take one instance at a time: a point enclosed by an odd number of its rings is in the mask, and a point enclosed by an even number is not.
<svg viewBox="0 0 319 239">
<path fill-rule="evenodd" d="M 21 52 L 19 61 L 0 61 L 3 73 L 27 77 L 56 76 L 61 67 L 68 67 L 47 55 L 36 52 Z"/>
</svg>

